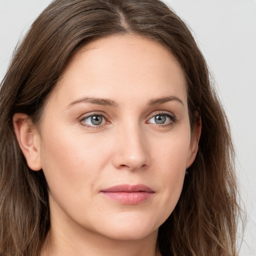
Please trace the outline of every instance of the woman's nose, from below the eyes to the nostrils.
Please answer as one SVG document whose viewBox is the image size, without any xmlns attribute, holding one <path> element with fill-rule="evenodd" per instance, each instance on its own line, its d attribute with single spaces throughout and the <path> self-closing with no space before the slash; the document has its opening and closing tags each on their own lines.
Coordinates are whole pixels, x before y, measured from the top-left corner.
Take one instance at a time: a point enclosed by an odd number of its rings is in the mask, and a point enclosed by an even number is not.
<svg viewBox="0 0 256 256">
<path fill-rule="evenodd" d="M 149 148 L 139 127 L 123 127 L 115 140 L 112 164 L 117 169 L 138 170 L 150 165 Z"/>
</svg>

